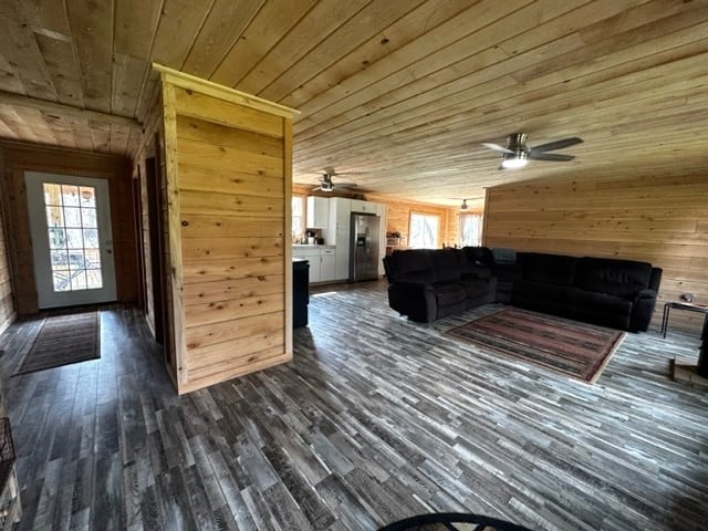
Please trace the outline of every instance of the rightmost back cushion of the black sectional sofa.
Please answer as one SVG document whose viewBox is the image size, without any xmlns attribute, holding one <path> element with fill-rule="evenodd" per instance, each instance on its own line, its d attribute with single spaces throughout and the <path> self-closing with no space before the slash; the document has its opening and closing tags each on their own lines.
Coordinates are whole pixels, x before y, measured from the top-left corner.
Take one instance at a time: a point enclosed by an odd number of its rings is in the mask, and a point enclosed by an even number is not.
<svg viewBox="0 0 708 531">
<path fill-rule="evenodd" d="M 629 296 L 648 288 L 652 264 L 634 260 L 583 257 L 577 263 L 575 285 L 616 296 Z"/>
</svg>

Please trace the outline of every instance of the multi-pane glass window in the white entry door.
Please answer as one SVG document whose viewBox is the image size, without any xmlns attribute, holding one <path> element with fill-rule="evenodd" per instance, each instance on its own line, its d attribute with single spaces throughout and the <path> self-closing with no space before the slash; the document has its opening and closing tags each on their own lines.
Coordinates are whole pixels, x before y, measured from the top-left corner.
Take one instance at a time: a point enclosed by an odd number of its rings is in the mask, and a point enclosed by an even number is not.
<svg viewBox="0 0 708 531">
<path fill-rule="evenodd" d="M 103 288 L 96 190 L 44 183 L 44 207 L 54 291 Z"/>
</svg>

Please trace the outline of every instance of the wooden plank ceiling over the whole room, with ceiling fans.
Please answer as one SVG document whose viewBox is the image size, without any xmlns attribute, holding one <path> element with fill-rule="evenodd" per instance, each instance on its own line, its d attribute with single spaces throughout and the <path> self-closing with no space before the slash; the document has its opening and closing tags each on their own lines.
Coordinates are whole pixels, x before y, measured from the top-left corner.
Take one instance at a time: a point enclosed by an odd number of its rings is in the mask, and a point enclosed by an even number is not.
<svg viewBox="0 0 708 531">
<path fill-rule="evenodd" d="M 296 183 L 455 205 L 708 157 L 706 0 L 7 0 L 0 32 L 8 139 L 129 156 L 155 61 L 300 110 Z M 584 143 L 499 171 L 512 132 Z"/>
</svg>

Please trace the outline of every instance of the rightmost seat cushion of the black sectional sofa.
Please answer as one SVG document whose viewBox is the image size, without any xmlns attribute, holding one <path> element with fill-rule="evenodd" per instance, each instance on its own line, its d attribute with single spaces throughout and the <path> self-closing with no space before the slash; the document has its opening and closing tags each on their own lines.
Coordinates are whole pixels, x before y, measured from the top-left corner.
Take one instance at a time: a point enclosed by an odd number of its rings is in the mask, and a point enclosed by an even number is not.
<svg viewBox="0 0 708 531">
<path fill-rule="evenodd" d="M 632 315 L 632 301 L 622 296 L 571 288 L 564 304 L 571 319 L 627 330 Z"/>
</svg>

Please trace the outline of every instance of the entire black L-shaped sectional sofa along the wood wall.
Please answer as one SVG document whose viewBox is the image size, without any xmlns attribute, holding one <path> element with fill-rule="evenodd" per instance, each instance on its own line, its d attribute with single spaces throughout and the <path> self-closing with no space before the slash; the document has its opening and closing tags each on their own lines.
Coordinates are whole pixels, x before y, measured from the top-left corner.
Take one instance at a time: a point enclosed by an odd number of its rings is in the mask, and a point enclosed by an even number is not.
<svg viewBox="0 0 708 531">
<path fill-rule="evenodd" d="M 494 254 L 503 260 L 494 260 Z M 646 331 L 662 270 L 650 263 L 488 248 L 396 251 L 384 259 L 391 308 L 430 322 L 487 302 Z M 464 292 L 464 294 L 462 294 Z"/>
</svg>

